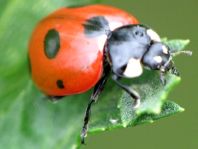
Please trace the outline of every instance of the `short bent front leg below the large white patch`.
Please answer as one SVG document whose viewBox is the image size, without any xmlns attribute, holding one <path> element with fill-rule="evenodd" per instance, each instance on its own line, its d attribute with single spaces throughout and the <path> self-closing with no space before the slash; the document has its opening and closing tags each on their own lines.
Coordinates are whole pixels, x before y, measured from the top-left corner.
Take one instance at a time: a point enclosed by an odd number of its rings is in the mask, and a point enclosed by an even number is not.
<svg viewBox="0 0 198 149">
<path fill-rule="evenodd" d="M 118 77 L 116 74 L 112 76 L 112 79 L 115 81 L 115 83 L 121 87 L 124 91 L 126 91 L 133 99 L 134 99 L 134 108 L 139 107 L 140 105 L 140 95 L 133 90 L 131 87 L 126 86 L 119 82 L 120 77 Z"/>
</svg>

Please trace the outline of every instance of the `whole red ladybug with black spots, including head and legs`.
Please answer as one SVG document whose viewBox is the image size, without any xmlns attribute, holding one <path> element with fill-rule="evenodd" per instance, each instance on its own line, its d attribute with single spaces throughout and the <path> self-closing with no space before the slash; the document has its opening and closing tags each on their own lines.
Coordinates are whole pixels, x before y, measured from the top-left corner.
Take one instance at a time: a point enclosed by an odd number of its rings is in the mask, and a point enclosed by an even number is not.
<svg viewBox="0 0 198 149">
<path fill-rule="evenodd" d="M 172 61 L 174 54 L 150 27 L 105 5 L 55 11 L 40 21 L 29 43 L 32 79 L 46 95 L 59 99 L 94 87 L 85 112 L 82 143 L 91 106 L 110 76 L 131 95 L 133 108 L 137 108 L 140 95 L 120 79 L 139 77 L 146 67 L 158 70 L 165 84 L 166 72 L 179 75 Z"/>
</svg>

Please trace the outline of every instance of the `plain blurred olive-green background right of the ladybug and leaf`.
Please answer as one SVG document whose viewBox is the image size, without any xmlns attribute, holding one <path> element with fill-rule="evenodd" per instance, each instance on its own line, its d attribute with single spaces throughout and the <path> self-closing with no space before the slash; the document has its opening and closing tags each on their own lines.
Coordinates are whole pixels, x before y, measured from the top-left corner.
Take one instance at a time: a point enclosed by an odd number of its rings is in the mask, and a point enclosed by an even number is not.
<svg viewBox="0 0 198 149">
<path fill-rule="evenodd" d="M 105 0 L 135 15 L 161 37 L 191 40 L 192 57 L 175 59 L 182 82 L 168 99 L 186 111 L 154 124 L 89 135 L 82 149 L 197 149 L 198 148 L 198 1 L 197 0 Z"/>
</svg>

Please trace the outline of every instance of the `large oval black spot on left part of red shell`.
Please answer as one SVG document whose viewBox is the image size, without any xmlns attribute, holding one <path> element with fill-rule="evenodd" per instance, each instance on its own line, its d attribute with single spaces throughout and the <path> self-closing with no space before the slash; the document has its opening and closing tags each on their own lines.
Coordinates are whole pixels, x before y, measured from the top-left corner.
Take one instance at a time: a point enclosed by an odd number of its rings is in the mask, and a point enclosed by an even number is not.
<svg viewBox="0 0 198 149">
<path fill-rule="evenodd" d="M 44 40 L 44 52 L 49 58 L 55 58 L 60 49 L 60 36 L 58 31 L 51 29 L 45 36 Z"/>
</svg>

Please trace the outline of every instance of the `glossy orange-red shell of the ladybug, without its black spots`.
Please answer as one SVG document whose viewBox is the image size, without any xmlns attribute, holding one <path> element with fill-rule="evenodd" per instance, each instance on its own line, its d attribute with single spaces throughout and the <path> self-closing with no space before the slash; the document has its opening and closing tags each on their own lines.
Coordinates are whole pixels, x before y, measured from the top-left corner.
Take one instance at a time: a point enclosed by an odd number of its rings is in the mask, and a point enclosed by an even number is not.
<svg viewBox="0 0 198 149">
<path fill-rule="evenodd" d="M 51 96 L 85 92 L 100 79 L 103 71 L 104 36 L 90 38 L 83 24 L 95 16 L 104 16 L 111 28 L 137 24 L 128 13 L 104 5 L 62 8 L 47 16 L 35 28 L 29 43 L 32 78 L 37 87 Z M 44 38 L 50 29 L 60 35 L 60 50 L 49 59 L 44 53 Z M 62 80 L 64 88 L 57 87 Z"/>
</svg>

